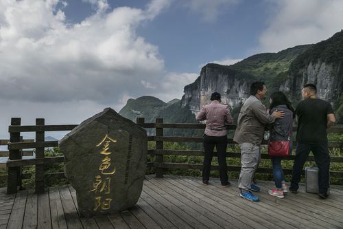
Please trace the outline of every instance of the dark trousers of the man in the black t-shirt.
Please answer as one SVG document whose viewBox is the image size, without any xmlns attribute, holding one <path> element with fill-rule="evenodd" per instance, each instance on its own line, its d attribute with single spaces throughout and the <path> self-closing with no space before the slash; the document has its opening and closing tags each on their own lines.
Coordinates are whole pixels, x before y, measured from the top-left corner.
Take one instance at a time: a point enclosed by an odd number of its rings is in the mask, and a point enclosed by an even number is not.
<svg viewBox="0 0 343 229">
<path fill-rule="evenodd" d="M 309 151 L 314 153 L 314 160 L 318 166 L 318 186 L 319 193 L 327 193 L 330 186 L 330 155 L 327 142 L 322 144 L 305 144 L 296 145 L 296 158 L 294 160 L 291 188 L 298 190 L 298 183 L 303 171 L 303 166 L 309 155 Z"/>
</svg>

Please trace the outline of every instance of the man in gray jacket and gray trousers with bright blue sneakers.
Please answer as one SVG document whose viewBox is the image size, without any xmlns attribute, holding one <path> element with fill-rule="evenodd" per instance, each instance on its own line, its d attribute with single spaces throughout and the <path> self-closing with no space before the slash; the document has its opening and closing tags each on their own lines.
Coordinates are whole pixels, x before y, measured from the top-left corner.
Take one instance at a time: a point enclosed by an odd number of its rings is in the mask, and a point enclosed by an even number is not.
<svg viewBox="0 0 343 229">
<path fill-rule="evenodd" d="M 263 140 L 265 124 L 271 124 L 276 118 L 285 116 L 283 111 L 274 111 L 271 115 L 266 111 L 261 100 L 265 98 L 267 87 L 263 82 L 255 82 L 250 86 L 250 97 L 244 102 L 237 120 L 237 128 L 233 140 L 241 148 L 241 173 L 238 188 L 240 197 L 250 201 L 259 201 L 251 190 L 259 191 L 253 183 L 255 171 L 261 161 L 260 146 Z"/>
</svg>

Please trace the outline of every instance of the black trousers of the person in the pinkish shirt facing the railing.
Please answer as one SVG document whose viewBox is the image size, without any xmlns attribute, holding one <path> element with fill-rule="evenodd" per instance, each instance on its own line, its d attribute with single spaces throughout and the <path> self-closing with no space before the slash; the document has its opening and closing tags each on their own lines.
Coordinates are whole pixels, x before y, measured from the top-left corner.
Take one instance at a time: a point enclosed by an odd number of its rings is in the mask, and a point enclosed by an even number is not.
<svg viewBox="0 0 343 229">
<path fill-rule="evenodd" d="M 219 162 L 219 174 L 220 182 L 226 184 L 228 182 L 228 166 L 226 164 L 226 147 L 228 145 L 228 139 L 225 136 L 214 137 L 204 135 L 204 168 L 202 169 L 202 180 L 210 179 L 211 163 L 213 157 L 214 147 L 217 149 L 218 162 Z"/>
</svg>

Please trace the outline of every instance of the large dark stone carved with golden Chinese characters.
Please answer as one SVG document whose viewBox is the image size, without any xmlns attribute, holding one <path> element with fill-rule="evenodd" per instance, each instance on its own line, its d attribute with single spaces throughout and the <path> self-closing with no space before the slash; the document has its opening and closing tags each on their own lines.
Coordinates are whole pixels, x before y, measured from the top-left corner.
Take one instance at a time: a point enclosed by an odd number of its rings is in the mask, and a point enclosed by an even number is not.
<svg viewBox="0 0 343 229">
<path fill-rule="evenodd" d="M 106 108 L 65 135 L 60 151 L 82 217 L 113 214 L 137 203 L 146 168 L 145 129 Z"/>
</svg>

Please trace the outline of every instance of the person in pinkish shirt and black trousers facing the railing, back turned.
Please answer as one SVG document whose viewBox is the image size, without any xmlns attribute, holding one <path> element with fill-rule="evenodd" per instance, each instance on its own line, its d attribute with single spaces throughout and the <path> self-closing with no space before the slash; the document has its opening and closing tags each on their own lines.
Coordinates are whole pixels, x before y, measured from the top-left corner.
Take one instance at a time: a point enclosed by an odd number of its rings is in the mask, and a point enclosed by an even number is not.
<svg viewBox="0 0 343 229">
<path fill-rule="evenodd" d="M 225 124 L 233 123 L 233 118 L 228 110 L 227 105 L 220 104 L 220 94 L 213 92 L 211 95 L 212 102 L 204 105 L 196 120 L 206 120 L 204 131 L 204 167 L 202 169 L 202 184 L 209 184 L 211 162 L 214 147 L 217 149 L 218 163 L 220 167 L 220 182 L 223 187 L 230 186 L 228 182 L 228 168 L 226 164 L 226 147 L 228 144 Z"/>
</svg>

